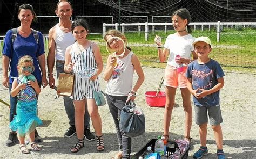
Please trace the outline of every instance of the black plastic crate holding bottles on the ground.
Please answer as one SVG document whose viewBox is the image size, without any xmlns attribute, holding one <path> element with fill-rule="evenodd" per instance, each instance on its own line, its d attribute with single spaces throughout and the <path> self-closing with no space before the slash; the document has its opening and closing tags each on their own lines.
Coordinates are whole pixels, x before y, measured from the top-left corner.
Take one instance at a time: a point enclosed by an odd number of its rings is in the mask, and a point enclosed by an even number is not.
<svg viewBox="0 0 256 159">
<path fill-rule="evenodd" d="M 147 153 L 147 147 L 149 146 L 151 146 L 152 151 L 154 152 L 154 143 L 156 141 L 157 139 L 151 139 L 150 141 L 148 141 L 142 149 L 140 149 L 136 154 L 132 156 L 132 158 L 139 158 L 139 156 L 142 156 L 144 158 Z M 187 159 L 190 146 L 191 145 L 189 145 L 186 148 L 184 153 L 180 156 L 180 159 Z M 167 157 L 171 156 L 177 149 L 179 149 L 178 144 L 175 141 L 168 140 L 166 145 L 166 156 Z"/>
</svg>

